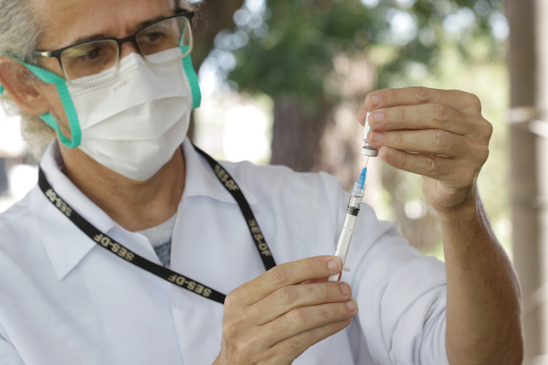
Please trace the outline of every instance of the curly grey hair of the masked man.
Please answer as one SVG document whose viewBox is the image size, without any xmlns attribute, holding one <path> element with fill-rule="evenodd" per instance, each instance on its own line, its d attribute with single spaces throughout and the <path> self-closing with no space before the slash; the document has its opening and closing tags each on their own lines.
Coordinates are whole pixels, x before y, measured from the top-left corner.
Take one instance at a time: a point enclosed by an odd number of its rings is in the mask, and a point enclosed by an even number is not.
<svg viewBox="0 0 548 365">
<path fill-rule="evenodd" d="M 175 0 L 178 9 L 192 9 L 186 0 Z M 28 0 L 0 0 L 0 55 L 10 55 L 36 64 L 32 51 L 36 49 L 41 30 L 33 19 Z M 21 117 L 21 135 L 39 157 L 47 144 L 56 138 L 53 128 L 36 115 L 30 115 L 10 98 L 0 95 L 0 104 L 8 115 Z"/>
</svg>

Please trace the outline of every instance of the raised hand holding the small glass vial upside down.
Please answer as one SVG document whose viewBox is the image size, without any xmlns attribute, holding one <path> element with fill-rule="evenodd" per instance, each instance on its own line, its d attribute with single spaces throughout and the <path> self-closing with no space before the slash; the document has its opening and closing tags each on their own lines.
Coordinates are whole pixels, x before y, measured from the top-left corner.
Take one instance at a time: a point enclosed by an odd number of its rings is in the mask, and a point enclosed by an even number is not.
<svg viewBox="0 0 548 365">
<path fill-rule="evenodd" d="M 489 155 L 492 125 L 476 95 L 423 87 L 384 89 L 366 97 L 358 114 L 372 128 L 370 146 L 387 164 L 422 175 L 423 193 L 438 212 L 475 196 L 476 179 Z"/>
</svg>

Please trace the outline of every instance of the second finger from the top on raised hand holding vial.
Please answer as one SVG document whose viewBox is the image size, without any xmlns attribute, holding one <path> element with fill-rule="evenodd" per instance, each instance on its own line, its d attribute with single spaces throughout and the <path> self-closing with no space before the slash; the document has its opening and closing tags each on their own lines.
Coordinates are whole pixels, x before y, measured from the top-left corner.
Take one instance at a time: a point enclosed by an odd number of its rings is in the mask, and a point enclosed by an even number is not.
<svg viewBox="0 0 548 365">
<path fill-rule="evenodd" d="M 471 134 L 478 124 L 467 114 L 433 103 L 376 109 L 369 115 L 368 123 L 379 131 L 442 129 L 458 135 Z"/>
</svg>

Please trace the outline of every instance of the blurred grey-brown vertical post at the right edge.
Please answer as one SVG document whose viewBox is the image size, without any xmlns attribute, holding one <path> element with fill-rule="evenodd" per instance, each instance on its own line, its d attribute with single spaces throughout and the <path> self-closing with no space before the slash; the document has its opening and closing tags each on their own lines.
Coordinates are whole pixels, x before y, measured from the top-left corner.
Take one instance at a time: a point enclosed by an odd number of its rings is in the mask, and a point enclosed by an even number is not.
<svg viewBox="0 0 548 365">
<path fill-rule="evenodd" d="M 511 146 L 511 205 L 513 262 L 520 279 L 523 299 L 524 364 L 544 364 L 548 354 L 543 284 L 548 278 L 543 263 L 546 260 L 545 232 L 541 231 L 542 182 L 547 181 L 539 170 L 544 153 L 541 137 L 531 131 L 531 120 L 541 118 L 540 102 L 547 88 L 541 86 L 540 62 L 544 52 L 539 32 L 545 21 L 541 14 L 546 0 L 507 0 L 506 17 L 510 24 L 508 67 L 510 72 L 510 135 Z M 536 25 L 539 24 L 538 27 Z M 547 60 L 548 61 L 548 60 Z M 546 63 L 548 66 L 548 63 Z M 547 84 L 548 85 L 548 84 Z M 545 97 L 544 100 L 548 101 Z M 548 157 L 548 155 L 546 155 Z M 544 169 L 546 170 L 546 169 Z M 545 224 L 547 227 L 548 225 Z"/>
</svg>

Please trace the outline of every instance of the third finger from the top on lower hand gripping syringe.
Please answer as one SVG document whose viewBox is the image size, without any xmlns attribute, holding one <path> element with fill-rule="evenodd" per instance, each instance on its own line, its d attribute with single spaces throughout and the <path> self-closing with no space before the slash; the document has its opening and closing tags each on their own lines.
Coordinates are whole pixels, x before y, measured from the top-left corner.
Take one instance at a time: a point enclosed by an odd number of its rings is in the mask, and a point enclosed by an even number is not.
<svg viewBox="0 0 548 365">
<path fill-rule="evenodd" d="M 283 316 L 266 323 L 266 325 L 261 327 L 261 332 L 267 334 L 266 340 L 268 343 L 276 344 L 299 333 L 310 331 L 329 323 L 349 320 L 357 312 L 358 304 L 354 299 L 350 299 L 344 303 L 304 306 L 293 309 Z"/>
</svg>

